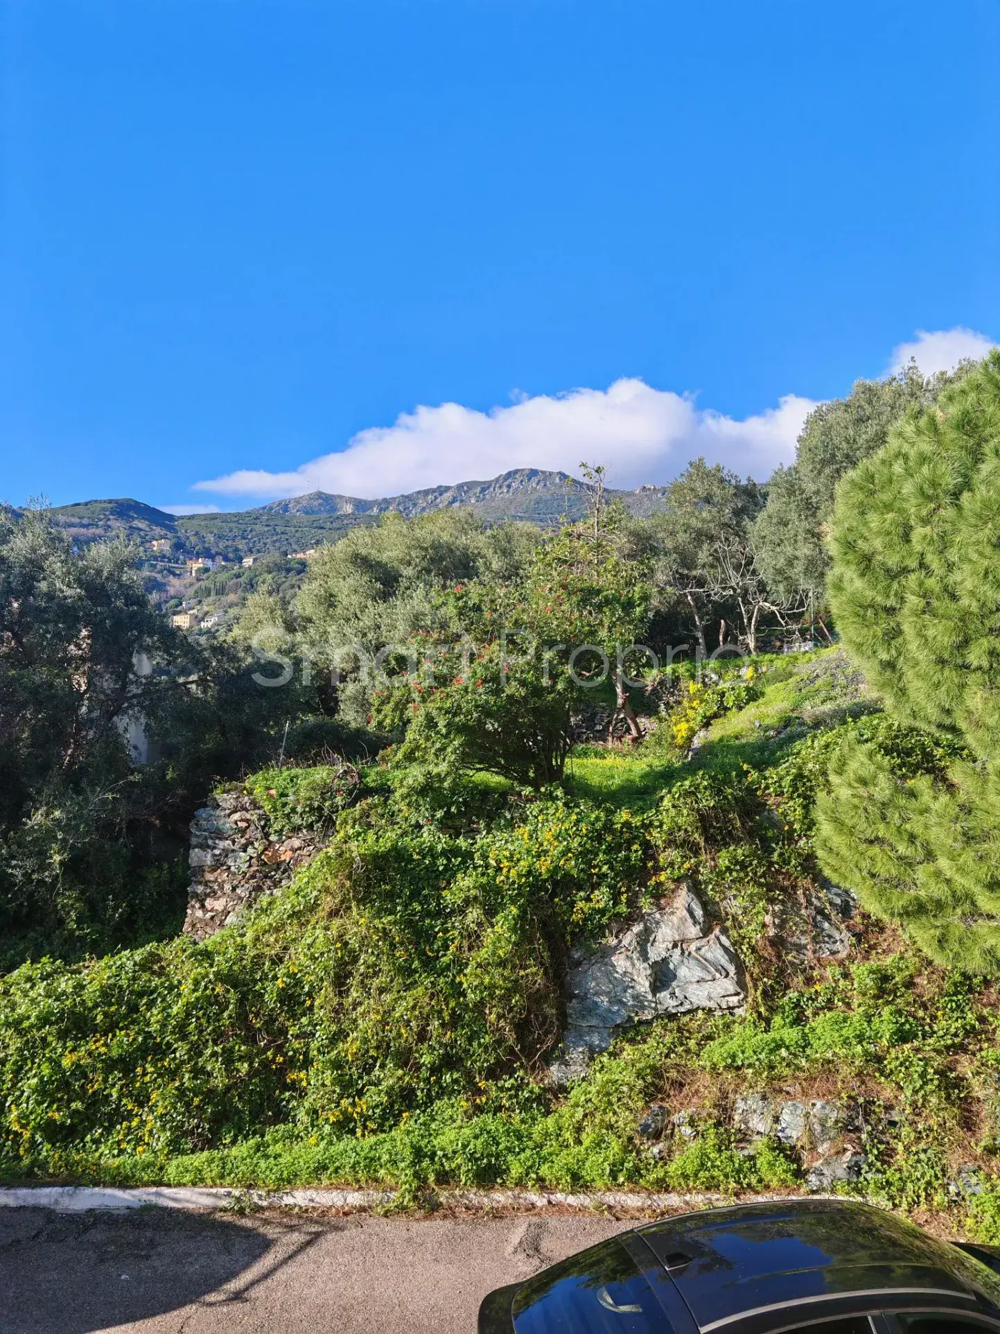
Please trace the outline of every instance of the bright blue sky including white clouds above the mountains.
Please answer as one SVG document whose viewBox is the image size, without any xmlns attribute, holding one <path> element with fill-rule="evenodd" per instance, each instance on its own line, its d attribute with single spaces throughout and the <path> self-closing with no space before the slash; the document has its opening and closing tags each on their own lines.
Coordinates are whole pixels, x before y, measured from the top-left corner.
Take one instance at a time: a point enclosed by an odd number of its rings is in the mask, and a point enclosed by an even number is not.
<svg viewBox="0 0 1000 1334">
<path fill-rule="evenodd" d="M 0 0 L 0 43 L 15 503 L 765 474 L 899 344 L 980 346 L 916 331 L 1000 338 L 997 0 Z"/>
</svg>

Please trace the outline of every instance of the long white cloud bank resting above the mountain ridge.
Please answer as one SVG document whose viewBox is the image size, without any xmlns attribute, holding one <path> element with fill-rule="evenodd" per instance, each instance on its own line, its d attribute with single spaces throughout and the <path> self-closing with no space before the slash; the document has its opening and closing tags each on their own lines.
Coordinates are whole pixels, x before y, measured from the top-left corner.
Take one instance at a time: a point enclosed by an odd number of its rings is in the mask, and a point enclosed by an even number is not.
<svg viewBox="0 0 1000 1334">
<path fill-rule="evenodd" d="M 372 499 L 421 487 L 497 476 L 509 468 L 604 463 L 612 486 L 669 482 L 699 455 L 764 479 L 795 456 L 809 399 L 789 394 L 776 408 L 743 420 L 699 410 L 688 396 L 643 380 L 608 390 L 524 398 L 477 412 L 460 403 L 417 407 L 389 427 L 359 431 L 347 448 L 292 472 L 241 471 L 196 490 L 259 499 L 332 491 Z"/>
</svg>

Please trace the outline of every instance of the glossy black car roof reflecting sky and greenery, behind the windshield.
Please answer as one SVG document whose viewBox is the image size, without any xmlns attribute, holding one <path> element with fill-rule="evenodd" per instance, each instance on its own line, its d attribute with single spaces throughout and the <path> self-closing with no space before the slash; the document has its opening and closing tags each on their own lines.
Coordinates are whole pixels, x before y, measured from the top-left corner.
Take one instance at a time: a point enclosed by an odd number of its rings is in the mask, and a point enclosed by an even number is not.
<svg viewBox="0 0 1000 1334">
<path fill-rule="evenodd" d="M 787 1201 L 716 1209 L 640 1229 L 667 1263 L 703 1331 L 801 1303 L 801 1317 L 839 1314 L 845 1294 L 879 1306 L 1000 1311 L 1000 1279 L 947 1242 L 849 1201 Z M 815 1314 L 813 1314 L 815 1311 Z M 757 1323 L 756 1321 L 753 1323 Z"/>
</svg>

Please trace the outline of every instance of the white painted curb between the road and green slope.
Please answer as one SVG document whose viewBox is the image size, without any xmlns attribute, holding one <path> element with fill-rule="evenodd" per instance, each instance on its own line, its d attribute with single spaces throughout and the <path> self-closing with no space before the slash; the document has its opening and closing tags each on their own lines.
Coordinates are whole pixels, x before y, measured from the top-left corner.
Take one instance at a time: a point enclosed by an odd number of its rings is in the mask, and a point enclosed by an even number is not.
<svg viewBox="0 0 1000 1334">
<path fill-rule="evenodd" d="M 212 1210 L 247 1202 L 257 1209 L 340 1209 L 371 1210 L 391 1205 L 395 1190 L 236 1190 L 229 1186 L 8 1186 L 0 1187 L 0 1209 L 53 1209 L 60 1214 L 80 1214 L 89 1209 L 184 1209 Z M 740 1203 L 793 1199 L 792 1195 L 743 1195 Z M 813 1199 L 825 1199 L 813 1195 Z M 444 1207 L 475 1209 L 572 1209 L 592 1211 L 628 1209 L 665 1213 L 677 1209 L 711 1209 L 736 1203 L 729 1195 L 644 1194 L 641 1191 L 592 1191 L 572 1194 L 561 1190 L 441 1190 Z"/>
</svg>

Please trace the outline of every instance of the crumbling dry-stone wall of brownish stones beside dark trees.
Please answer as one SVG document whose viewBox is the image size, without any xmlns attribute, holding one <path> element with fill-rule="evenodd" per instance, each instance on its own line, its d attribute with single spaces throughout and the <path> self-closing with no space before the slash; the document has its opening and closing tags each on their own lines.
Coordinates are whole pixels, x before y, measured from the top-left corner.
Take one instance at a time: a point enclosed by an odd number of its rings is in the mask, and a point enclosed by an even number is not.
<svg viewBox="0 0 1000 1334">
<path fill-rule="evenodd" d="M 272 836 L 268 819 L 247 792 L 220 792 L 191 824 L 191 887 L 184 934 L 213 935 L 265 894 L 284 888 L 312 860 L 319 835 Z"/>
</svg>

